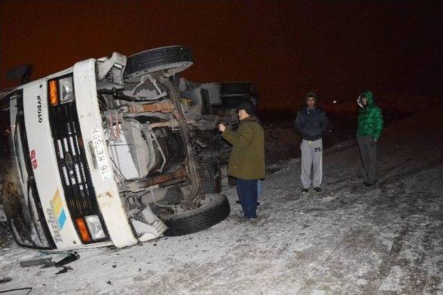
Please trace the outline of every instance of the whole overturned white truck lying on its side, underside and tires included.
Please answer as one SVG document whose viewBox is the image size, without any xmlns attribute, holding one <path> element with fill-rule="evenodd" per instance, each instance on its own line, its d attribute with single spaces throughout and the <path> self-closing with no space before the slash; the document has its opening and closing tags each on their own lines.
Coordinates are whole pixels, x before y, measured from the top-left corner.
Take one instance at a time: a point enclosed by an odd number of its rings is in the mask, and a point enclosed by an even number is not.
<svg viewBox="0 0 443 295">
<path fill-rule="evenodd" d="M 127 247 L 228 216 L 214 138 L 235 114 L 210 111 L 217 83 L 179 80 L 191 64 L 182 46 L 114 53 L 1 93 L 0 191 L 17 244 Z"/>
</svg>

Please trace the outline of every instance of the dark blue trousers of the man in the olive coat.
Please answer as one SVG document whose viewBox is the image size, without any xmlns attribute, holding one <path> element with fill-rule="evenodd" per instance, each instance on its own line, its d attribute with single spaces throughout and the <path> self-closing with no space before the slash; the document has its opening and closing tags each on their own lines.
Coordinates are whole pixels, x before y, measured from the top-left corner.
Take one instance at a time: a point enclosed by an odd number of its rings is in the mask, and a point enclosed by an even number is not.
<svg viewBox="0 0 443 295">
<path fill-rule="evenodd" d="M 257 184 L 258 179 L 237 178 L 237 195 L 245 218 L 257 217 Z"/>
</svg>

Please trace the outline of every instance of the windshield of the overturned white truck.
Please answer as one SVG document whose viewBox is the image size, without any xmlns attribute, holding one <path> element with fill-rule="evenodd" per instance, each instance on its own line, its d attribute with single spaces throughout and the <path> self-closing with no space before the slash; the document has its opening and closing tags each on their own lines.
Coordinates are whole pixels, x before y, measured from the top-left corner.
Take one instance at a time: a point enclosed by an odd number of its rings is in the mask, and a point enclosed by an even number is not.
<svg viewBox="0 0 443 295">
<path fill-rule="evenodd" d="M 17 103 L 17 98 L 18 103 Z M 51 249 L 46 238 L 35 180 L 28 174 L 28 143 L 24 129 L 21 93 L 10 96 L 0 109 L 0 194 L 12 234 L 17 244 L 25 247 Z M 9 100 L 9 99 L 8 99 Z M 10 120 L 14 120 L 10 124 Z M 30 170 L 32 173 L 32 169 Z M 46 224 L 46 222 L 45 222 Z M 48 232 L 48 231 L 46 231 Z"/>
</svg>

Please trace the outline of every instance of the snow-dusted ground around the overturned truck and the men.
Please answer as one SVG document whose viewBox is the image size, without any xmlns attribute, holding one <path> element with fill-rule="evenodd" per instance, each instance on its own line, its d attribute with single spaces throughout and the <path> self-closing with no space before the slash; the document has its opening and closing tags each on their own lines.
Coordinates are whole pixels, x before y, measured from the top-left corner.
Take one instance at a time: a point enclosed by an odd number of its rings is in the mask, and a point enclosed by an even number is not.
<svg viewBox="0 0 443 295">
<path fill-rule="evenodd" d="M 80 251 L 71 271 L 20 267 L 34 251 L 0 249 L 0 292 L 31 294 L 443 294 L 443 139 L 432 116 L 389 125 L 379 183 L 363 188 L 354 141 L 323 157 L 323 193 L 300 194 L 298 159 L 264 181 L 259 220 L 127 249 Z M 53 256 L 58 260 L 62 256 Z M 22 292 L 27 292 L 23 290 Z"/>
</svg>

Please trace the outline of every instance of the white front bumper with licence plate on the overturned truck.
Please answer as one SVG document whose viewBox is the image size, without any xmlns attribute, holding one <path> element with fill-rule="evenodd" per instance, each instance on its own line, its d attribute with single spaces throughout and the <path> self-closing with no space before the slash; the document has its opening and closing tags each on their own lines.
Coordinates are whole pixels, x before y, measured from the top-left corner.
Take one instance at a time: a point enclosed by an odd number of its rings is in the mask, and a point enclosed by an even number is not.
<svg viewBox="0 0 443 295">
<path fill-rule="evenodd" d="M 105 222 L 107 233 L 116 247 L 127 247 L 136 244 L 132 227 L 129 224 L 125 209 L 120 200 L 111 160 L 103 141 L 102 118 L 98 107 L 96 77 L 96 60 L 78 62 L 73 67 L 75 98 L 82 143 L 86 155 L 91 182 L 95 190 L 96 202 Z M 98 164 L 97 153 L 100 153 Z"/>
</svg>

